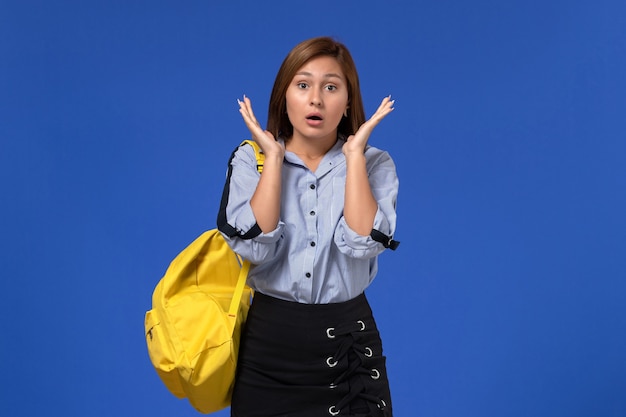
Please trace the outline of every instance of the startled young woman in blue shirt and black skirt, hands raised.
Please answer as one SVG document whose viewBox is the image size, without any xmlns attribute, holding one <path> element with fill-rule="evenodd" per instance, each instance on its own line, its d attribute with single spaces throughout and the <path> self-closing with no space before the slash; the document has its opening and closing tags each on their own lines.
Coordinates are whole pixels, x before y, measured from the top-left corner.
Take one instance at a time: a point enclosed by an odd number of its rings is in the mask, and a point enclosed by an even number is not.
<svg viewBox="0 0 626 417">
<path fill-rule="evenodd" d="M 267 130 L 248 97 L 239 111 L 251 146 L 229 162 L 218 228 L 253 264 L 234 417 L 391 416 L 382 343 L 364 290 L 396 226 L 398 179 L 388 153 L 367 144 L 393 110 L 365 119 L 344 45 L 297 45 L 280 67 Z"/>
</svg>

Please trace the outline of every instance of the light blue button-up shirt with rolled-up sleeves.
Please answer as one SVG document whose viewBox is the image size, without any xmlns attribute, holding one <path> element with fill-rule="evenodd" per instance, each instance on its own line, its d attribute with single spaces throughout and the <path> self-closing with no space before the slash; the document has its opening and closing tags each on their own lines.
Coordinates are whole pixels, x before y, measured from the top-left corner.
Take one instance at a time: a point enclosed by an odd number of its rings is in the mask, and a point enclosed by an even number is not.
<svg viewBox="0 0 626 417">
<path fill-rule="evenodd" d="M 336 303 L 363 293 L 376 276 L 377 256 L 385 246 L 354 232 L 343 217 L 343 144 L 338 140 L 315 172 L 296 154 L 285 152 L 280 221 L 275 230 L 257 232 L 251 239 L 241 235 L 258 228 L 250 199 L 260 174 L 251 146 L 240 146 L 233 154 L 220 210 L 236 235 L 222 234 L 235 252 L 250 260 L 248 285 L 255 291 L 300 303 Z M 395 164 L 387 152 L 372 146 L 365 157 L 378 202 L 374 229 L 391 237 L 398 195 Z"/>
</svg>

